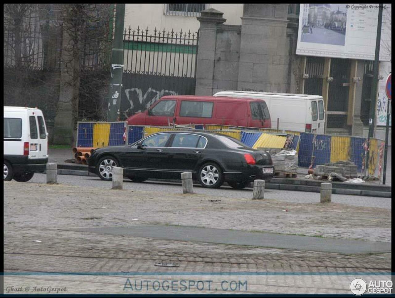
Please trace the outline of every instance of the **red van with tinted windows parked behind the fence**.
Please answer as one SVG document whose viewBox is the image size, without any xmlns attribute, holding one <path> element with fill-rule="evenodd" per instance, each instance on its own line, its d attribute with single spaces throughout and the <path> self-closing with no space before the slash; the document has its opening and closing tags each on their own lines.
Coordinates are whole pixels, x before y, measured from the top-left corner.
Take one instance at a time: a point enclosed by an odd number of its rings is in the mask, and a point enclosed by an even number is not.
<svg viewBox="0 0 395 298">
<path fill-rule="evenodd" d="M 169 95 L 128 118 L 129 125 L 167 126 L 169 123 L 271 128 L 265 101 L 250 98 Z"/>
</svg>

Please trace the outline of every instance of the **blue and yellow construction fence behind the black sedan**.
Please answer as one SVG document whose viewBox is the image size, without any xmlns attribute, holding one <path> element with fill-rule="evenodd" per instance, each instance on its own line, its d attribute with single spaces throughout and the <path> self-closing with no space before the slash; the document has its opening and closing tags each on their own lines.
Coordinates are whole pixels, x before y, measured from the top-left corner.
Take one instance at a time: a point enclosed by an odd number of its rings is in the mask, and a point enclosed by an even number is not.
<svg viewBox="0 0 395 298">
<path fill-rule="evenodd" d="M 132 144 L 153 133 L 162 131 L 201 130 L 233 137 L 246 146 L 259 148 L 285 148 L 298 152 L 299 167 L 316 167 L 336 161 L 352 161 L 358 172 L 381 177 L 384 141 L 372 138 L 370 144 L 363 137 L 319 135 L 256 127 L 229 127 L 191 124 L 173 126 L 132 126 L 127 122 L 78 122 L 77 147 L 100 148 Z M 367 153 L 369 161 L 365 165 Z"/>
</svg>

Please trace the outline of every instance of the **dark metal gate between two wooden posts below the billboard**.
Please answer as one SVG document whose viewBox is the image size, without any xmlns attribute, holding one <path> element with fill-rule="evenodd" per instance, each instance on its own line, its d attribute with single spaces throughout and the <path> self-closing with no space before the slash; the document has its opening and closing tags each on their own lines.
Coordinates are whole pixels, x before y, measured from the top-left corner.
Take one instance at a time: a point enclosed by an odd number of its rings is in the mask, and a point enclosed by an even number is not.
<svg viewBox="0 0 395 298">
<path fill-rule="evenodd" d="M 327 127 L 347 128 L 348 90 L 350 88 L 350 59 L 331 59 Z"/>
</svg>

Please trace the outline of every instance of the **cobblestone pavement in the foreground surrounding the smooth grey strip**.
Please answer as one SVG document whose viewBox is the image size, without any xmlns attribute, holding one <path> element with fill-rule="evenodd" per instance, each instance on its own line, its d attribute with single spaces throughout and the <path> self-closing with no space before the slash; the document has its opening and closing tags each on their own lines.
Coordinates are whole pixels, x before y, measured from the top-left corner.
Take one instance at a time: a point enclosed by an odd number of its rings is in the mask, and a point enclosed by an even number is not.
<svg viewBox="0 0 395 298">
<path fill-rule="evenodd" d="M 181 192 L 181 187 L 179 187 Z M 250 193 L 248 193 L 249 197 Z M 363 272 L 391 270 L 391 254 L 343 255 L 61 231 L 140 224 L 187 225 L 390 242 L 391 210 L 337 203 L 208 197 L 64 184 L 4 183 L 4 269 L 8 272 Z M 218 200 L 218 201 L 215 201 Z M 284 212 L 287 210 L 288 212 Z M 135 220 L 135 219 L 138 219 Z M 34 242 L 35 240 L 41 242 Z M 156 262 L 179 267 L 158 267 Z M 174 273 L 174 275 L 177 275 Z M 166 276 L 160 276 L 164 279 Z M 158 278 L 158 276 L 156 276 Z M 201 278 L 201 277 L 200 277 Z M 240 279 L 241 276 L 238 276 Z M 256 279 L 245 292 L 339 293 L 331 276 Z M 255 278 L 255 279 L 254 279 Z M 352 276 L 343 277 L 348 285 Z M 126 276 L 6 276 L 6 286 L 69 285 L 68 292 L 124 292 Z M 314 283 L 312 283 L 314 281 Z M 320 286 L 321 283 L 321 286 Z M 313 285 L 314 284 L 314 285 Z M 310 285 L 310 286 L 308 286 Z M 106 290 L 107 289 L 107 290 Z M 199 289 L 198 289 L 199 290 Z M 198 291 L 196 290 L 196 291 Z M 192 290 L 190 292 L 193 292 Z M 243 291 L 241 291 L 243 292 Z M 20 293 L 19 293 L 20 294 Z"/>
</svg>

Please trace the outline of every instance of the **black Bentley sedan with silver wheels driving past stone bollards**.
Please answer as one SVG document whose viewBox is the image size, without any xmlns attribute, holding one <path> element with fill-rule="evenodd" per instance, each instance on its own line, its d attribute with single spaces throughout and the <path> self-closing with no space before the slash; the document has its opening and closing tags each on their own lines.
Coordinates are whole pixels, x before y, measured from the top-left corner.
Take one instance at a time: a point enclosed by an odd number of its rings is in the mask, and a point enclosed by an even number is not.
<svg viewBox="0 0 395 298">
<path fill-rule="evenodd" d="M 226 135 L 198 131 L 154 133 L 131 145 L 99 148 L 89 157 L 88 166 L 103 180 L 112 179 L 113 167 L 122 167 L 124 176 L 134 182 L 180 179 L 182 172 L 192 172 L 192 178 L 207 188 L 226 181 L 241 189 L 274 175 L 268 153 Z"/>
</svg>

